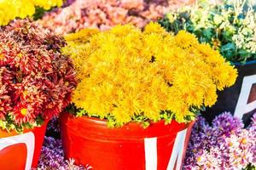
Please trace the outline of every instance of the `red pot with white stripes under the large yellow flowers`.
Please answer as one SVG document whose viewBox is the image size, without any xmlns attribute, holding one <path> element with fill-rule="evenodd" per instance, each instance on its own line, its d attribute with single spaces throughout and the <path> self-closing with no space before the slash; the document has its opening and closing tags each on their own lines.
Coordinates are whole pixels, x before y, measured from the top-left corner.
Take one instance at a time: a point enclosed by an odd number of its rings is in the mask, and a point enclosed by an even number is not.
<svg viewBox="0 0 256 170">
<path fill-rule="evenodd" d="M 131 122 L 108 128 L 107 122 L 88 116 L 61 115 L 61 139 L 66 158 L 96 170 L 181 169 L 194 122 L 149 127 Z"/>
</svg>

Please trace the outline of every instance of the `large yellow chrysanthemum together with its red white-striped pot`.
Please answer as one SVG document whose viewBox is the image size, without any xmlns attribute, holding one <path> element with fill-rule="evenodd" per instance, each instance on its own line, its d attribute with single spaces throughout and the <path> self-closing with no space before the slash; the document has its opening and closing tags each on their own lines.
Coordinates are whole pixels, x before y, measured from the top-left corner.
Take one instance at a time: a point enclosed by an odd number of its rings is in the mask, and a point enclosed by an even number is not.
<svg viewBox="0 0 256 170">
<path fill-rule="evenodd" d="M 66 36 L 78 86 L 61 114 L 67 158 L 95 169 L 180 169 L 197 114 L 236 70 L 207 44 L 156 23 Z"/>
</svg>

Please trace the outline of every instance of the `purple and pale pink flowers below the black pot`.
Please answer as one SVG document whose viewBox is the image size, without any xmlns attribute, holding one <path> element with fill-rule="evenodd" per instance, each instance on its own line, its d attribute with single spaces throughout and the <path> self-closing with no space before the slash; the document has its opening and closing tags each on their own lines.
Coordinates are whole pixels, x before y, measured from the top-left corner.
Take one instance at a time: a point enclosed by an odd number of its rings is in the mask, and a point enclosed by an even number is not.
<svg viewBox="0 0 256 170">
<path fill-rule="evenodd" d="M 199 117 L 195 122 L 184 170 L 243 169 L 256 165 L 256 114 L 249 127 L 230 113 L 224 112 L 210 126 Z"/>
</svg>

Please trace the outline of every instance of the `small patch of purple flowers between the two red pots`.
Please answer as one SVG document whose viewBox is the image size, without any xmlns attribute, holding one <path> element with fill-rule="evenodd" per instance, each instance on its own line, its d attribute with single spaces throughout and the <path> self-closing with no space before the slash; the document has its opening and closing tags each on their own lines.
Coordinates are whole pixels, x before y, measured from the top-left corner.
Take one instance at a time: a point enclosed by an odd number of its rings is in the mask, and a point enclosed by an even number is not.
<svg viewBox="0 0 256 170">
<path fill-rule="evenodd" d="M 91 167 L 79 167 L 74 165 L 74 160 L 65 160 L 61 146 L 61 139 L 52 137 L 44 138 L 44 146 L 38 163 L 38 170 L 90 170 Z"/>
</svg>

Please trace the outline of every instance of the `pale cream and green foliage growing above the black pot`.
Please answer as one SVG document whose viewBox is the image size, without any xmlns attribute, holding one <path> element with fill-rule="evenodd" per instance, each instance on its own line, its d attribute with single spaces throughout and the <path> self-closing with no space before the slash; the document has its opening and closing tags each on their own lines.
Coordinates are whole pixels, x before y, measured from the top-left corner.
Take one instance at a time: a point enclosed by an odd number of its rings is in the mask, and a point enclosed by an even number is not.
<svg viewBox="0 0 256 170">
<path fill-rule="evenodd" d="M 198 3 L 166 14 L 160 24 L 168 31 L 186 30 L 208 42 L 226 59 L 245 63 L 256 59 L 256 13 L 245 0 L 223 4 Z"/>
</svg>

